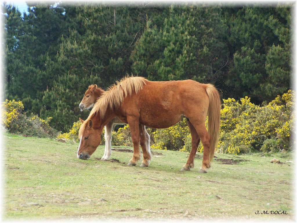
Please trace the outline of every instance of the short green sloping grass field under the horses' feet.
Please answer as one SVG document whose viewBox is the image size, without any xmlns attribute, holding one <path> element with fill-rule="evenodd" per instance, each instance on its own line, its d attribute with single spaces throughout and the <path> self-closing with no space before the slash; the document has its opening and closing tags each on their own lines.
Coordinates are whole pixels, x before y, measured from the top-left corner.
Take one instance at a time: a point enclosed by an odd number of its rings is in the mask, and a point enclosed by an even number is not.
<svg viewBox="0 0 297 223">
<path fill-rule="evenodd" d="M 7 133 L 2 141 L 2 220 L 296 220 L 292 154 L 215 154 L 202 174 L 200 155 L 181 172 L 188 154 L 178 151 L 153 150 L 149 167 L 131 167 L 128 147 L 102 161 L 100 145 L 80 160 L 78 144 Z"/>
</svg>

